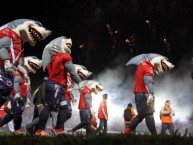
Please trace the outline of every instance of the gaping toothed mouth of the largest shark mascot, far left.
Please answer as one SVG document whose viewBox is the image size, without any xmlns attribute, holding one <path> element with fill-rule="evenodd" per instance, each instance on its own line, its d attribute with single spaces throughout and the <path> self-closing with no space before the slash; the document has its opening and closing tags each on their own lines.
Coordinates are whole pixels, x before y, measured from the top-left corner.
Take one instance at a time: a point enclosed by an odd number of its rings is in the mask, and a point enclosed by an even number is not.
<svg viewBox="0 0 193 145">
<path fill-rule="evenodd" d="M 43 40 L 42 34 L 37 31 L 34 27 L 29 26 L 29 32 L 30 32 L 30 37 L 32 38 L 33 41 L 41 41 Z"/>
</svg>

